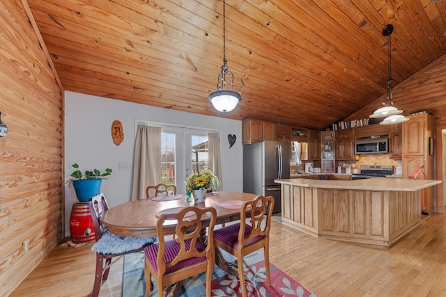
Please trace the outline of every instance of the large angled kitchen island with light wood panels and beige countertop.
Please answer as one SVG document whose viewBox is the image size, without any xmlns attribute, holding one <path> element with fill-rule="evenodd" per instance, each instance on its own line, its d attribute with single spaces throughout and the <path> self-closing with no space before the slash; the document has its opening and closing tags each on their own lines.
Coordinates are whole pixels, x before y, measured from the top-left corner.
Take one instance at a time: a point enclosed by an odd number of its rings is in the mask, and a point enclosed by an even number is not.
<svg viewBox="0 0 446 297">
<path fill-rule="evenodd" d="M 421 192 L 441 181 L 276 179 L 282 222 L 318 237 L 390 246 L 422 220 Z"/>
</svg>

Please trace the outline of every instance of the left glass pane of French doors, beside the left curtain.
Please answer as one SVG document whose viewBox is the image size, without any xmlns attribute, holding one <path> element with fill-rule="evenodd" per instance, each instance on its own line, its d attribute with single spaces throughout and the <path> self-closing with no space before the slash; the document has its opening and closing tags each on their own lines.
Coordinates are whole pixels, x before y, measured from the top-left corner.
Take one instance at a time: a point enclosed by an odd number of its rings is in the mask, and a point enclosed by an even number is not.
<svg viewBox="0 0 446 297">
<path fill-rule="evenodd" d="M 162 183 L 176 184 L 175 134 L 161 133 Z"/>
</svg>

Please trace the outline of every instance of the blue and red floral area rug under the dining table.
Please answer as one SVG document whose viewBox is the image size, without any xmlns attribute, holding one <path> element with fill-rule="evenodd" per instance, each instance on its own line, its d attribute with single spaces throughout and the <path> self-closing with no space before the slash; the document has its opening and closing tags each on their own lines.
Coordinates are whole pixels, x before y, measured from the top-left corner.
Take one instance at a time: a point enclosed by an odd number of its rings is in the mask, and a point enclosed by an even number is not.
<svg viewBox="0 0 446 297">
<path fill-rule="evenodd" d="M 232 255 L 224 253 L 224 258 L 231 262 L 235 259 Z M 271 286 L 266 282 L 265 265 L 263 262 L 263 252 L 254 252 L 245 257 L 245 284 L 248 296 L 301 296 L 316 297 L 311 291 L 286 275 L 276 266 L 270 264 Z M 153 280 L 153 279 L 152 279 Z M 206 274 L 199 274 L 197 281 L 192 278 L 185 280 L 178 296 L 197 297 L 205 296 Z M 154 289 L 150 296 L 157 296 L 156 283 L 153 282 Z M 212 296 L 242 296 L 240 282 L 238 278 L 227 275 L 222 269 L 215 266 L 212 278 Z M 138 252 L 125 255 L 123 266 L 123 297 L 144 296 L 146 292 L 146 282 L 144 281 L 144 253 Z"/>
</svg>

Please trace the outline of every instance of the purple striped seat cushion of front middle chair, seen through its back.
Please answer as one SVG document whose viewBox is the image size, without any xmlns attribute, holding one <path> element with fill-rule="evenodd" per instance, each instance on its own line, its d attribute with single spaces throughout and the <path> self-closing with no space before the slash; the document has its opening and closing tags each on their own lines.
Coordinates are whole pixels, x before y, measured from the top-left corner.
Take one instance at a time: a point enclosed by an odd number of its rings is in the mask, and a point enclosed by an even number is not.
<svg viewBox="0 0 446 297">
<path fill-rule="evenodd" d="M 190 247 L 190 240 L 185 241 L 187 250 Z M 146 256 L 148 257 L 148 260 L 151 262 L 153 268 L 155 268 L 155 271 L 158 271 L 158 265 L 156 262 L 156 258 L 158 255 L 158 243 L 155 243 L 151 246 L 148 246 L 145 248 Z M 199 241 L 195 243 L 195 248 L 199 250 L 200 252 L 205 250 L 206 248 L 203 246 L 203 244 Z M 178 255 L 178 252 L 180 252 L 180 244 L 177 243 L 175 240 L 166 241 L 165 244 L 165 252 L 164 252 L 164 262 L 168 263 L 171 262 L 176 255 Z M 206 262 L 206 257 L 192 257 L 190 259 L 185 259 L 183 261 L 178 262 L 174 266 L 171 266 L 170 268 L 166 269 L 166 273 L 171 273 L 172 271 L 177 271 L 180 268 L 184 268 L 187 266 L 190 266 L 192 264 L 197 264 L 200 262 Z"/>
</svg>

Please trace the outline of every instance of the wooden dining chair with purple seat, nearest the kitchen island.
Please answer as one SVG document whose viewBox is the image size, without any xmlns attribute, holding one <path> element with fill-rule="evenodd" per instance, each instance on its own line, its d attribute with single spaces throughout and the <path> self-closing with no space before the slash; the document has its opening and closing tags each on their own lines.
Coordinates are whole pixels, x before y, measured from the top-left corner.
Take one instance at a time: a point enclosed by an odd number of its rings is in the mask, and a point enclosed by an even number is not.
<svg viewBox="0 0 446 297">
<path fill-rule="evenodd" d="M 229 225 L 214 231 L 214 245 L 237 257 L 238 276 L 243 297 L 246 297 L 243 274 L 243 257 L 263 248 L 266 279 L 270 280 L 270 227 L 274 198 L 257 196 L 252 201 L 243 203 L 240 210 L 240 223 Z"/>
</svg>

